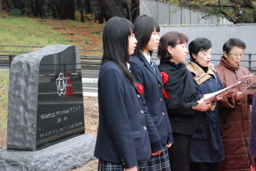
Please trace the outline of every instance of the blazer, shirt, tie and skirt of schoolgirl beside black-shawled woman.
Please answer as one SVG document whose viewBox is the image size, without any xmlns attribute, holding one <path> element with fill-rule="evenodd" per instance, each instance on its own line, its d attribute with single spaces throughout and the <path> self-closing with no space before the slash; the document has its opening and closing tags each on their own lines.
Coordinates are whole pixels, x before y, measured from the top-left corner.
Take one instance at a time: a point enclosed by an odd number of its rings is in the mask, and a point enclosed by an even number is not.
<svg viewBox="0 0 256 171">
<path fill-rule="evenodd" d="M 150 114 L 150 118 L 161 136 L 162 153 L 151 156 L 147 161 L 148 170 L 170 170 L 170 161 L 167 151 L 167 143 L 173 143 L 172 129 L 165 108 L 163 97 L 163 81 L 159 69 L 155 66 L 150 56 L 143 53 L 143 57 L 130 56 L 131 73 L 135 82 L 144 88 L 143 96 Z M 154 65 L 154 66 L 152 66 Z"/>
</svg>

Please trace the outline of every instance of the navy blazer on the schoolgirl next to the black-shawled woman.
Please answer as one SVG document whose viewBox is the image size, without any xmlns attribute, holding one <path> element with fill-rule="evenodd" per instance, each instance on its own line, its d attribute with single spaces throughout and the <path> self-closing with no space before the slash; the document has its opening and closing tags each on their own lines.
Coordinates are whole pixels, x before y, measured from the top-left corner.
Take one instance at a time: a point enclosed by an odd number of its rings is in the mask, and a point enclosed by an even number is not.
<svg viewBox="0 0 256 171">
<path fill-rule="evenodd" d="M 136 82 L 144 87 L 143 96 L 150 117 L 161 136 L 161 143 L 173 143 L 171 124 L 163 100 L 163 81 L 159 69 L 155 67 L 155 72 L 145 57 L 130 56 L 129 63 Z"/>
</svg>

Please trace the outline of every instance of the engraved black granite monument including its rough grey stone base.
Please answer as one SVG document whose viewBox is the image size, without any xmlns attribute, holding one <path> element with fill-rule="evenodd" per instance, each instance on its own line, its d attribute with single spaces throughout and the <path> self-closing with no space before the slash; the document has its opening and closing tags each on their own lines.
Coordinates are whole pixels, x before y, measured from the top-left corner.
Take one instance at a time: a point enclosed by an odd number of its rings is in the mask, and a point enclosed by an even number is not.
<svg viewBox="0 0 256 171">
<path fill-rule="evenodd" d="M 84 134 L 77 46 L 49 45 L 13 59 L 7 120 L 1 171 L 69 171 L 96 159 L 96 137 Z"/>
</svg>

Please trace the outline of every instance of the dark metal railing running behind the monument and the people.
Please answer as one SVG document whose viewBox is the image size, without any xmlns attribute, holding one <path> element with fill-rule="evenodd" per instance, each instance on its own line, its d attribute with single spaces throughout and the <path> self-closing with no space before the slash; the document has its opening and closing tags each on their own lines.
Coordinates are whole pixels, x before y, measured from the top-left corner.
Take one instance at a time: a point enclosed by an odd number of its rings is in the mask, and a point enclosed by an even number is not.
<svg viewBox="0 0 256 171">
<path fill-rule="evenodd" d="M 15 46 L 15 45 L 0 45 L 0 46 L 12 46 L 12 47 L 19 47 L 19 48 L 43 48 L 43 46 Z M 81 51 L 82 53 L 84 53 L 84 51 L 98 51 L 98 52 L 103 52 L 103 50 L 92 50 L 92 49 L 79 49 L 79 51 Z M 5 67 L 10 67 L 11 65 L 11 61 L 14 57 L 16 57 L 17 55 L 13 55 L 13 54 L 17 54 L 21 55 L 22 53 L 29 53 L 29 52 L 24 52 L 24 51 L 0 51 L 0 53 L 12 53 L 11 55 L 6 55 L 6 54 L 0 54 L 0 66 L 5 66 Z M 215 54 L 213 53 L 213 55 L 219 55 L 220 54 Z M 248 67 L 250 71 L 252 70 L 256 70 L 256 65 L 252 66 L 253 62 L 256 62 L 256 60 L 252 60 L 252 56 L 256 57 L 256 54 L 252 54 L 252 53 L 247 53 L 245 56 L 248 56 L 248 60 L 241 60 L 241 62 L 248 62 Z M 99 70 L 100 69 L 100 65 L 101 65 L 101 60 L 102 57 L 99 56 L 90 56 L 90 55 L 80 55 L 80 59 L 81 59 L 81 68 L 82 69 L 89 69 L 89 70 Z M 189 60 L 189 59 L 187 59 Z M 212 61 L 219 61 L 220 59 L 211 59 Z"/>
</svg>

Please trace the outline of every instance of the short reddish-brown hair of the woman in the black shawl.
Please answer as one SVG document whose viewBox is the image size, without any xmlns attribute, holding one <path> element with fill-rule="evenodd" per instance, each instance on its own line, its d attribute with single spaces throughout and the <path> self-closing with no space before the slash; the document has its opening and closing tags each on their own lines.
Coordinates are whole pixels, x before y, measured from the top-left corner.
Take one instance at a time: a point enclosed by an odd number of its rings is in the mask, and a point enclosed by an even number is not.
<svg viewBox="0 0 256 171">
<path fill-rule="evenodd" d="M 165 33 L 161 38 L 158 46 L 157 56 L 161 60 L 170 60 L 171 55 L 168 52 L 168 46 L 175 48 L 177 44 L 183 44 L 189 42 L 189 37 L 183 33 L 178 33 L 175 31 Z"/>
</svg>

